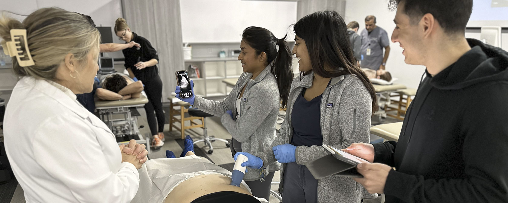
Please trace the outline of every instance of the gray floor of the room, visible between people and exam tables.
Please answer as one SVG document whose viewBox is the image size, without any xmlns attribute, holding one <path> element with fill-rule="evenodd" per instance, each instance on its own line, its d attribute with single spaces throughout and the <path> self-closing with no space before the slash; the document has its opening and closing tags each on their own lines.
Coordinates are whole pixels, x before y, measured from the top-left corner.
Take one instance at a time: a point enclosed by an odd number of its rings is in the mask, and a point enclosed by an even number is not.
<svg viewBox="0 0 508 203">
<path fill-rule="evenodd" d="M 138 117 L 139 125 L 144 125 L 145 127 L 140 129 L 140 132 L 144 135 L 149 135 L 149 128 L 148 123 L 146 121 L 146 113 L 141 108 L 139 109 L 139 112 L 141 116 Z M 167 115 L 167 111 L 166 111 Z M 168 122 L 168 121 L 166 121 Z M 383 121 L 383 123 L 391 123 L 391 122 L 399 122 L 399 120 L 387 118 Z M 373 124 L 379 124 L 379 121 L 377 117 L 372 118 Z M 223 138 L 223 139 L 231 139 L 231 134 L 224 128 L 223 125 L 220 124 L 220 118 L 218 117 L 208 117 L 206 118 L 206 124 L 208 129 L 209 136 L 215 136 L 217 138 Z M 149 157 L 152 158 L 166 158 L 166 150 L 171 150 L 175 153 L 176 156 L 178 156 L 183 150 L 183 141 L 180 139 L 180 132 L 173 130 L 169 131 L 169 124 L 165 125 L 164 128 L 165 132 L 165 139 L 166 142 L 164 146 L 156 151 L 152 151 L 149 154 Z M 185 131 L 186 134 L 190 135 L 193 139 L 197 140 L 202 137 L 203 131 L 201 128 L 194 128 L 190 130 Z M 380 139 L 377 136 L 371 135 L 371 141 L 372 142 L 380 142 L 382 139 Z M 195 151 L 198 155 L 205 156 L 206 158 L 210 159 L 212 162 L 214 162 L 217 165 L 223 166 L 225 168 L 229 169 L 228 167 L 232 167 L 232 163 L 234 163 L 233 158 L 231 157 L 231 151 L 224 143 L 221 142 L 213 142 L 212 146 L 214 147 L 214 151 L 212 154 L 207 154 L 208 147 L 204 146 L 204 143 L 198 143 L 195 147 Z M 274 182 L 278 182 L 280 179 L 279 173 L 275 173 L 275 176 L 273 178 Z M 278 185 L 273 185 L 272 190 L 278 191 Z M 23 196 L 23 190 L 19 186 L 17 186 L 14 195 L 11 199 L 11 202 L 19 203 L 19 202 L 25 202 L 24 196 Z M 278 203 L 279 201 L 274 198 L 273 196 L 270 197 L 271 203 Z M 364 202 L 368 203 L 374 203 L 374 202 L 381 202 L 381 198 L 378 197 L 376 199 L 368 199 Z"/>
</svg>

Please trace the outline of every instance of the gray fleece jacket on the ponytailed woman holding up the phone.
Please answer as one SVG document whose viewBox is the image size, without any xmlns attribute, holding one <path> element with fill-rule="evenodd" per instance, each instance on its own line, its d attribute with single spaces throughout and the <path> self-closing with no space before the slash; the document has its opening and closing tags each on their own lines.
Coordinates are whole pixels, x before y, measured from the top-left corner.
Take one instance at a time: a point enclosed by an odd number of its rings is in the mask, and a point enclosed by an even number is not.
<svg viewBox="0 0 508 203">
<path fill-rule="evenodd" d="M 265 67 L 263 72 L 255 79 L 251 73 L 243 73 L 229 95 L 222 101 L 204 99 L 197 96 L 194 99 L 194 108 L 206 113 L 221 117 L 222 124 L 231 133 L 233 138 L 242 143 L 242 151 L 253 155 L 271 149 L 270 145 L 275 139 L 275 124 L 280 108 L 279 89 L 277 80 L 270 72 L 271 65 Z M 236 99 L 245 87 L 240 109 L 236 109 Z M 240 112 L 241 118 L 233 119 L 226 113 L 232 110 L 233 115 Z M 233 146 L 231 146 L 233 147 Z M 272 153 L 273 156 L 273 153 Z M 266 157 L 261 157 L 262 159 Z M 266 170 L 264 170 L 266 168 Z M 280 170 L 280 163 L 272 161 L 261 169 L 248 168 L 243 177 L 245 181 L 259 180 L 262 174 Z M 261 173 L 263 171 L 263 173 Z"/>
</svg>

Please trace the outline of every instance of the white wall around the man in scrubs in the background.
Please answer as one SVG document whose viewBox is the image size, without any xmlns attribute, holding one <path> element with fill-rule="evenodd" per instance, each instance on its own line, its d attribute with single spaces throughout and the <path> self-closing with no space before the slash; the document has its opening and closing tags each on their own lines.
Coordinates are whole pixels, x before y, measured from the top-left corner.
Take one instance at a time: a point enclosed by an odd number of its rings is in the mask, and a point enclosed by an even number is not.
<svg viewBox="0 0 508 203">
<path fill-rule="evenodd" d="M 350 21 L 357 21 L 360 24 L 360 33 L 365 29 L 365 17 L 374 15 L 376 25 L 382 27 L 388 32 L 391 38 L 395 23 L 395 11 L 388 10 L 388 1 L 383 0 L 347 0 L 344 20 L 346 24 Z M 397 83 L 403 84 L 408 88 L 418 88 L 420 78 L 425 72 L 425 67 L 421 65 L 408 65 L 404 62 L 402 48 L 399 43 L 390 42 L 390 56 L 386 63 L 386 70 L 390 71 L 392 77 L 398 78 Z"/>
</svg>

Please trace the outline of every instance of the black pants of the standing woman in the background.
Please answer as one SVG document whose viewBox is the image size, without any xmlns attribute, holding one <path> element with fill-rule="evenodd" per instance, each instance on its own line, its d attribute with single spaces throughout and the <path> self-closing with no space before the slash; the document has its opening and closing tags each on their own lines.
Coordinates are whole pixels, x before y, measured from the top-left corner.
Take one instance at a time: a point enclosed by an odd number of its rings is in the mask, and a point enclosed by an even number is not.
<svg viewBox="0 0 508 203">
<path fill-rule="evenodd" d="M 162 81 L 160 76 L 156 76 L 150 80 L 142 82 L 145 85 L 144 91 L 148 97 L 148 103 L 145 104 L 146 120 L 148 121 L 148 126 L 150 127 L 150 132 L 153 136 L 157 134 L 157 132 L 164 131 L 165 118 L 161 100 Z M 155 114 L 153 111 L 155 111 Z M 156 119 L 155 116 L 157 116 Z"/>
</svg>

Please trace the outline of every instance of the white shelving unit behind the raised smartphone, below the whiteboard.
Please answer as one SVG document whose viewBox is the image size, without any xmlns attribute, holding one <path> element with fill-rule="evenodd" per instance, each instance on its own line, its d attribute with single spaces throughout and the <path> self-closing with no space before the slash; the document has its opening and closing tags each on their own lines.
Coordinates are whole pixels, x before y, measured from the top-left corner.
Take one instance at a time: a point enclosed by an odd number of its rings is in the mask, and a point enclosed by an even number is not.
<svg viewBox="0 0 508 203">
<path fill-rule="evenodd" d="M 203 97 L 228 95 L 233 89 L 227 87 L 222 81 L 226 78 L 239 78 L 243 73 L 242 63 L 236 57 L 185 60 L 185 67 L 190 64 L 198 67 L 201 76 L 200 78 L 190 78 L 194 81 L 194 93 Z M 298 59 L 293 58 L 292 64 L 294 76 L 298 77 L 300 74 Z"/>
</svg>

